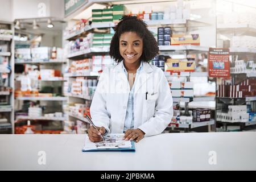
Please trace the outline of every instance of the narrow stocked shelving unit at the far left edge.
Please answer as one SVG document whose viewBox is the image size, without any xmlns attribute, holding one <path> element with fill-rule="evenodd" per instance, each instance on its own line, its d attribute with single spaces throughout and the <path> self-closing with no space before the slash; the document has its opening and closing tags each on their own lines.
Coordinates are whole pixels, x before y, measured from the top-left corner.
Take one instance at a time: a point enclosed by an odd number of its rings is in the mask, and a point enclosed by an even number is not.
<svg viewBox="0 0 256 182">
<path fill-rule="evenodd" d="M 7 64 L 10 65 L 10 69 L 0 71 L 1 86 L 10 86 L 12 92 L 0 92 L 1 97 L 6 97 L 6 103 L 0 104 L 0 113 L 7 118 L 7 123 L 0 123 L 0 133 L 9 134 L 14 133 L 14 27 L 12 22 L 0 21 L 0 29 L 9 30 L 11 34 L 0 35 L 1 44 L 7 44 L 7 50 L 0 52 L 0 60 L 7 60 Z M 2 63 L 1 63 L 2 64 Z M 7 74 L 7 75 L 6 75 Z M 5 75 L 5 76 L 4 76 Z M 6 78 L 7 77 L 7 78 Z M 2 82 L 2 79 L 6 79 Z M 3 85 L 2 85 L 3 84 Z"/>
</svg>

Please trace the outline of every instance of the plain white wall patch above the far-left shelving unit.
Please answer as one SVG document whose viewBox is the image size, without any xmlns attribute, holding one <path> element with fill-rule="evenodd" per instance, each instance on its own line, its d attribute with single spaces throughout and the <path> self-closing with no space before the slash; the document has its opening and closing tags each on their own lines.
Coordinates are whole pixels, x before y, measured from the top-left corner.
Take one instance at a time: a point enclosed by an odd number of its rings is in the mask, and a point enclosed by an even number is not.
<svg viewBox="0 0 256 182">
<path fill-rule="evenodd" d="M 0 0 L 0 21 L 12 22 L 13 21 L 13 1 Z"/>
</svg>

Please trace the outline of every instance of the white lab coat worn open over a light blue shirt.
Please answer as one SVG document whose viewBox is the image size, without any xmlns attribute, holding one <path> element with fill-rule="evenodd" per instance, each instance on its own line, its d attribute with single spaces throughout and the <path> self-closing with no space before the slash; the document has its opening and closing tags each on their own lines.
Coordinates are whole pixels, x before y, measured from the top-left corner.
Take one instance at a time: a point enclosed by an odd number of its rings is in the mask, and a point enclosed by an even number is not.
<svg viewBox="0 0 256 182">
<path fill-rule="evenodd" d="M 160 134 L 173 116 L 168 81 L 160 68 L 145 62 L 135 79 L 134 129 L 144 131 L 145 137 Z M 104 126 L 109 133 L 123 133 L 129 92 L 122 63 L 105 69 L 90 106 L 94 124 Z"/>
</svg>

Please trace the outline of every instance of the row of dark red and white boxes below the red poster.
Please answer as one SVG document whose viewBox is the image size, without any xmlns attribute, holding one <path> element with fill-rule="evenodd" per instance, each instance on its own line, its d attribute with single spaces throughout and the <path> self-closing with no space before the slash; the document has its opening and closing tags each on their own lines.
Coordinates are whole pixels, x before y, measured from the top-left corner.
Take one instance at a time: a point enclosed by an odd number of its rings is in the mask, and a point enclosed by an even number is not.
<svg viewBox="0 0 256 182">
<path fill-rule="evenodd" d="M 231 85 L 224 81 L 218 85 L 217 97 L 243 98 L 256 96 L 256 79 L 247 78 L 240 84 Z"/>
</svg>

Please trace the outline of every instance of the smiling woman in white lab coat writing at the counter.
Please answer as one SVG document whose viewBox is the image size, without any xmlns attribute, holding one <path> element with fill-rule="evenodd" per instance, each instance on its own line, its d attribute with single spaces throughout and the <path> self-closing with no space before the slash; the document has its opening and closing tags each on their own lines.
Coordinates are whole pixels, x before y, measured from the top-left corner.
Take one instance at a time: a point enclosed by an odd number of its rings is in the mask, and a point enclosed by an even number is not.
<svg viewBox="0 0 256 182">
<path fill-rule="evenodd" d="M 110 44 L 110 56 L 118 64 L 102 72 L 90 106 L 100 131 L 90 127 L 92 142 L 106 133 L 125 133 L 125 140 L 139 142 L 166 129 L 173 115 L 170 87 L 163 71 L 148 64 L 158 52 L 146 24 L 123 16 Z"/>
</svg>

